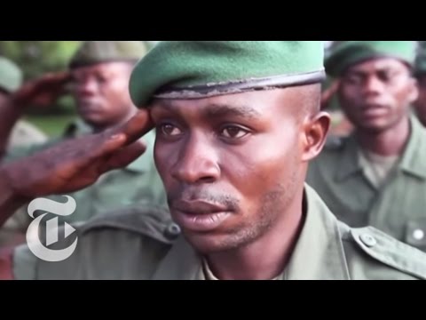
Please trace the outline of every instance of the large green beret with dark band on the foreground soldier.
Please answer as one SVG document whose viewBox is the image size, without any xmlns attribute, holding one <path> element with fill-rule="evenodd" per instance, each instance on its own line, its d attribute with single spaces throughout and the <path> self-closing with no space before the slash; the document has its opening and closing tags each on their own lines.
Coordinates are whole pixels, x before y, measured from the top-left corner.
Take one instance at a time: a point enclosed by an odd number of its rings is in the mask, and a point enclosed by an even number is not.
<svg viewBox="0 0 426 320">
<path fill-rule="evenodd" d="M 130 76 L 130 97 L 197 99 L 215 95 L 320 83 L 325 77 L 321 41 L 164 41 Z"/>
</svg>

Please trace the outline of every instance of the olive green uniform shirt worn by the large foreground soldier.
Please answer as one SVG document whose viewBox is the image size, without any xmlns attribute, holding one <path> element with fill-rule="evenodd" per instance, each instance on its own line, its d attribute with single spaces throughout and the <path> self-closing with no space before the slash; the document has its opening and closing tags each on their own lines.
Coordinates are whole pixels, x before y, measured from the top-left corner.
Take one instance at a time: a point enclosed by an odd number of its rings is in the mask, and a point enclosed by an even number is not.
<svg viewBox="0 0 426 320">
<path fill-rule="evenodd" d="M 305 187 L 304 227 L 279 280 L 425 279 L 426 254 L 375 228 L 349 228 Z M 159 220 L 158 209 L 139 207 L 102 216 L 77 228 L 75 252 L 61 262 L 39 260 L 26 246 L 15 250 L 16 279 L 211 278 L 201 256 Z M 175 239 L 176 237 L 176 239 Z M 69 237 L 69 242 L 74 238 Z M 60 248 L 67 246 L 59 242 Z"/>
</svg>

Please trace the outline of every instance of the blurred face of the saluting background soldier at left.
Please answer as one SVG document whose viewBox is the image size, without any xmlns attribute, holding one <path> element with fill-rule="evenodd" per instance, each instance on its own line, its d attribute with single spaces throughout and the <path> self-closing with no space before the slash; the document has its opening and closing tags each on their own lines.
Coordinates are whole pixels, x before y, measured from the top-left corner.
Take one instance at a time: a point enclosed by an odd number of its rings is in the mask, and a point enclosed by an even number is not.
<svg viewBox="0 0 426 320">
<path fill-rule="evenodd" d="M 106 62 L 71 71 L 77 111 L 87 124 L 109 127 L 130 116 L 131 67 L 128 62 Z"/>
</svg>

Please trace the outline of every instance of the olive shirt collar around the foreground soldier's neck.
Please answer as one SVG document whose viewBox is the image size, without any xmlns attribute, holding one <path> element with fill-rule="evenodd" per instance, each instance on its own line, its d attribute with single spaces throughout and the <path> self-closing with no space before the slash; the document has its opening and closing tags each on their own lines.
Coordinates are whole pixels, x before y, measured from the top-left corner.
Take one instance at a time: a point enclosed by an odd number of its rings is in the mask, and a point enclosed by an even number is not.
<svg viewBox="0 0 426 320">
<path fill-rule="evenodd" d="M 306 218 L 285 270 L 295 279 L 349 279 L 339 222 L 317 193 L 305 185 Z M 202 258 L 180 237 L 160 262 L 154 279 L 201 280 Z"/>
</svg>

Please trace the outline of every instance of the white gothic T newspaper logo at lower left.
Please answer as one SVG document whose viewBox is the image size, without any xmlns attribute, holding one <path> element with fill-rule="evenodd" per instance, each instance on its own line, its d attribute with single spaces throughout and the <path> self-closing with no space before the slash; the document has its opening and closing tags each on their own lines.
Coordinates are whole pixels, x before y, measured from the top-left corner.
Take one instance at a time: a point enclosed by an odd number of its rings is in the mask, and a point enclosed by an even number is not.
<svg viewBox="0 0 426 320">
<path fill-rule="evenodd" d="M 75 212 L 75 200 L 71 196 L 66 196 L 67 202 L 60 203 L 46 198 L 37 198 L 28 204 L 28 214 L 34 220 L 27 230 L 27 244 L 29 250 L 33 252 L 36 257 L 45 261 L 61 261 L 66 260 L 74 251 L 77 245 L 77 238 L 72 244 L 67 245 L 65 248 L 50 249 L 50 245 L 60 247 L 59 231 L 63 232 L 63 237 L 67 238 L 74 233 L 75 228 L 71 227 L 67 222 L 59 227 L 58 217 L 51 218 L 51 214 L 57 216 L 68 216 Z M 43 213 L 35 218 L 35 212 L 42 211 Z M 43 219 L 44 217 L 49 219 Z M 38 236 L 32 236 L 32 235 Z M 45 236 L 44 243 L 40 239 L 40 235 Z"/>
</svg>

